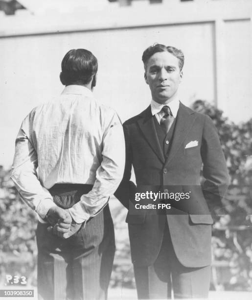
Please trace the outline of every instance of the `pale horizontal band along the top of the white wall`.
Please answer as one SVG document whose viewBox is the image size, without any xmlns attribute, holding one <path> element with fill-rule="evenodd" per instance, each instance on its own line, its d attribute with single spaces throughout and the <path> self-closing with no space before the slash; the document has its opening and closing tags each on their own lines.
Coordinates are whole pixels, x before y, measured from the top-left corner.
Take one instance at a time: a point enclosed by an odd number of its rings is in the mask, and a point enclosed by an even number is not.
<svg viewBox="0 0 252 300">
<path fill-rule="evenodd" d="M 203 22 L 250 20 L 252 1 L 219 0 L 164 2 L 156 5 L 112 5 L 102 10 L 77 10 L 69 14 L 48 11 L 32 15 L 28 11 L 0 16 L 0 37 L 127 29 L 145 26 L 183 25 Z M 143 9 L 144 8 L 144 9 Z"/>
</svg>

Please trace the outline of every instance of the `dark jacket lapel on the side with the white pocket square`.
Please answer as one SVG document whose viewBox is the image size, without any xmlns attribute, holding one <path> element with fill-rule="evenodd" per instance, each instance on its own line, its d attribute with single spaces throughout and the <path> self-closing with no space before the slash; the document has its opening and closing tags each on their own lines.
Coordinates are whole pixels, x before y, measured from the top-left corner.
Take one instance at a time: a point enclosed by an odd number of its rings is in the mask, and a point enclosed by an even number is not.
<svg viewBox="0 0 252 300">
<path fill-rule="evenodd" d="M 172 158 L 178 152 L 179 148 L 182 146 L 183 141 L 185 140 L 188 132 L 190 131 L 195 118 L 196 116 L 194 114 L 194 111 L 187 108 L 180 102 L 180 107 L 178 110 L 176 125 L 173 134 L 173 140 L 168 153 L 166 165 L 170 163 Z"/>
</svg>

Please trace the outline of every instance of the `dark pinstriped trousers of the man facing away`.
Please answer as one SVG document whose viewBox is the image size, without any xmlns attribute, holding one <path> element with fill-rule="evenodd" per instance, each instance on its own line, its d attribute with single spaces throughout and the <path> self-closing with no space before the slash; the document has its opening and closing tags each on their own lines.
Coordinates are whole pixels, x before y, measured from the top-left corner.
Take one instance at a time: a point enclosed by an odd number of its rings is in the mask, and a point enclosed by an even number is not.
<svg viewBox="0 0 252 300">
<path fill-rule="evenodd" d="M 54 202 L 69 208 L 92 186 L 56 185 Z M 40 300 L 106 300 L 115 255 L 109 206 L 68 239 L 38 224 L 38 296 Z"/>
</svg>

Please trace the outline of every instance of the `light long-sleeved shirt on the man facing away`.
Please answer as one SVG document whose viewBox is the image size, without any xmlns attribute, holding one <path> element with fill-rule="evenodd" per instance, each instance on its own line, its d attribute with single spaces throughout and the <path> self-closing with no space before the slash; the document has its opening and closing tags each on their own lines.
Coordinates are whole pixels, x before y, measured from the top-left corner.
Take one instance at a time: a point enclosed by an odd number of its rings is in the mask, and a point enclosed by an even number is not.
<svg viewBox="0 0 252 300">
<path fill-rule="evenodd" d="M 99 104 L 88 88 L 69 85 L 58 99 L 34 108 L 23 120 L 11 178 L 41 222 L 56 205 L 48 191 L 54 184 L 92 184 L 69 208 L 73 220 L 82 223 L 114 194 L 124 163 L 124 134 L 115 111 Z"/>
</svg>

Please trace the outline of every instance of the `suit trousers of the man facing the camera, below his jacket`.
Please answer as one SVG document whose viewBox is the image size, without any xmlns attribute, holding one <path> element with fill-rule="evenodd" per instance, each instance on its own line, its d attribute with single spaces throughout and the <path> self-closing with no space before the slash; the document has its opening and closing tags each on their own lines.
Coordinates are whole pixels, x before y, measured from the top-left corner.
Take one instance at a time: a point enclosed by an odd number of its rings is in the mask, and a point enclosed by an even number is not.
<svg viewBox="0 0 252 300">
<path fill-rule="evenodd" d="M 134 264 L 138 299 L 207 298 L 210 285 L 210 266 L 187 268 L 178 260 L 165 225 L 160 253 L 151 266 Z"/>
</svg>

